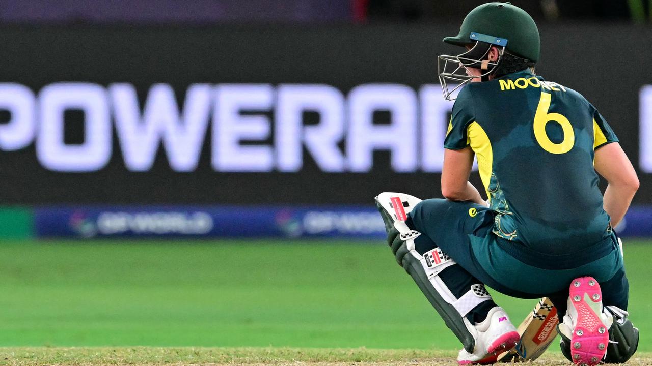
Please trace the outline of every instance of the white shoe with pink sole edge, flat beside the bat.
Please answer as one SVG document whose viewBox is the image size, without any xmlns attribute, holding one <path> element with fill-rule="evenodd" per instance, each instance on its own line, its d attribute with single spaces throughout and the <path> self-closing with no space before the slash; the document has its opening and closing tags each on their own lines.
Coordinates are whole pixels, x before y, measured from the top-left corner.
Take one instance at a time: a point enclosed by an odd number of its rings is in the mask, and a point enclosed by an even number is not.
<svg viewBox="0 0 652 366">
<path fill-rule="evenodd" d="M 457 362 L 460 365 L 490 365 L 496 363 L 498 355 L 510 350 L 518 343 L 520 335 L 509 321 L 502 307 L 491 309 L 484 321 L 475 324 L 475 348 L 473 353 L 460 350 Z"/>
</svg>

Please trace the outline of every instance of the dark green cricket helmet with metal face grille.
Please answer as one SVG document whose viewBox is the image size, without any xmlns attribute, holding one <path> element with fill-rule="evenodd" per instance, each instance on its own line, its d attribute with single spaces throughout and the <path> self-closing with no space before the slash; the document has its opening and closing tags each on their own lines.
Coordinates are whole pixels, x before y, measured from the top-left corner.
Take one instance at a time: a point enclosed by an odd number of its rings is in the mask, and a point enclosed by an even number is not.
<svg viewBox="0 0 652 366">
<path fill-rule="evenodd" d="M 511 3 L 486 3 L 471 10 L 462 22 L 460 33 L 443 41 L 473 46 L 457 56 L 439 56 L 439 81 L 448 100 L 453 100 L 451 94 L 475 77 L 488 81 L 489 76 L 499 77 L 534 66 L 541 51 L 537 24 L 525 10 Z M 497 61 L 488 60 L 492 46 L 499 49 Z M 447 72 L 447 66 L 452 66 L 452 72 Z M 482 74 L 470 76 L 467 68 L 479 68 Z M 460 85 L 449 92 L 446 81 Z"/>
</svg>

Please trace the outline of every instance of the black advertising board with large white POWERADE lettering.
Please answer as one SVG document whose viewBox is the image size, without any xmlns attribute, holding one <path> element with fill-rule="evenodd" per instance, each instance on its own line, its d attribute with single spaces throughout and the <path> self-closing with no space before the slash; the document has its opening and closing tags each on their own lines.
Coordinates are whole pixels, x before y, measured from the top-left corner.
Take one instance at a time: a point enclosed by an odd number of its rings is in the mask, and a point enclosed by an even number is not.
<svg viewBox="0 0 652 366">
<path fill-rule="evenodd" d="M 5 27 L 4 204 L 371 204 L 439 197 L 447 25 Z M 626 25 L 543 26 L 537 73 L 614 128 L 652 204 L 652 70 Z M 606 57 L 623 55 L 628 57 Z M 590 62 L 589 62 L 590 61 Z M 480 184 L 479 177 L 471 180 Z M 604 182 L 603 182 L 604 183 Z"/>
</svg>

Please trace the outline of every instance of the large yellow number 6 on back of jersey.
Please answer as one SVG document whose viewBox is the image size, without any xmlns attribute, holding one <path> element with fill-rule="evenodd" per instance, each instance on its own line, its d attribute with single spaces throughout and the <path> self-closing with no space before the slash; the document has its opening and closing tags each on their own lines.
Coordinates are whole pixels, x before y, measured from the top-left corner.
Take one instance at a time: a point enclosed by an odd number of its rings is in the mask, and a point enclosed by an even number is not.
<svg viewBox="0 0 652 366">
<path fill-rule="evenodd" d="M 537 138 L 537 143 L 547 152 L 565 154 L 571 151 L 571 148 L 575 145 L 575 133 L 572 130 L 571 122 L 559 113 L 548 113 L 548 108 L 550 108 L 550 94 L 541 92 L 541 100 L 539 100 L 539 106 L 537 106 L 537 113 L 534 115 L 534 137 Z M 548 134 L 546 134 L 546 124 L 553 120 L 561 124 L 564 133 L 564 141 L 558 144 L 550 141 Z"/>
</svg>

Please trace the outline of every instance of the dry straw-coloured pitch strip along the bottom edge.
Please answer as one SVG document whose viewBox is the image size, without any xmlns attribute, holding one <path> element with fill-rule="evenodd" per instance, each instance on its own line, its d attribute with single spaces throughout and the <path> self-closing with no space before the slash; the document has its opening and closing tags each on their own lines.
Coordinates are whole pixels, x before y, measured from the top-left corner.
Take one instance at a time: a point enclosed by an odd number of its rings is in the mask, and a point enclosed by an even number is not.
<svg viewBox="0 0 652 366">
<path fill-rule="evenodd" d="M 0 365 L 457 365 L 455 352 L 372 350 L 367 348 L 0 348 Z M 628 365 L 652 365 L 652 354 L 639 354 Z M 550 353 L 529 363 L 571 365 Z M 527 364 L 524 364 L 527 365 Z"/>
</svg>

